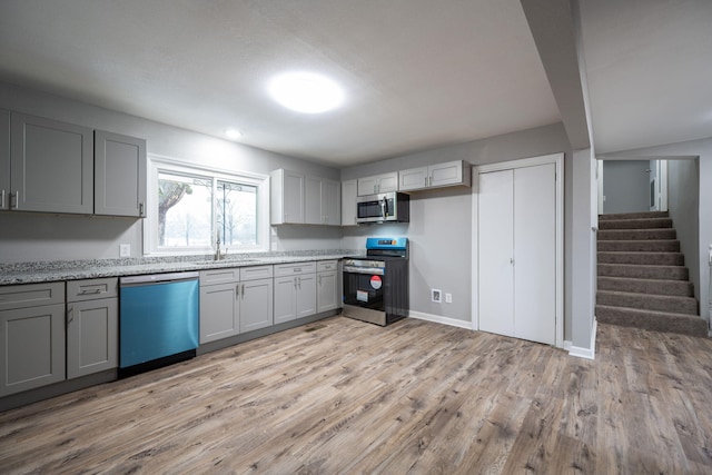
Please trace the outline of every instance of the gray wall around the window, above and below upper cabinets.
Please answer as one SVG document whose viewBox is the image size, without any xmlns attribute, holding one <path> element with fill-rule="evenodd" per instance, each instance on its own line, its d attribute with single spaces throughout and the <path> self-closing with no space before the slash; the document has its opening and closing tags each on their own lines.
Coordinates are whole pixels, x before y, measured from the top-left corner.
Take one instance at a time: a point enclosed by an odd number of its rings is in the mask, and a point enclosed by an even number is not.
<svg viewBox="0 0 712 475">
<path fill-rule="evenodd" d="M 277 168 L 339 179 L 335 168 L 289 158 L 67 98 L 0 82 L 0 108 L 147 139 L 149 154 L 215 168 L 268 175 Z M 115 258 L 119 244 L 142 255 L 142 220 L 0 212 L 0 263 Z M 273 228 L 275 229 L 275 228 Z M 277 229 L 278 250 L 340 247 L 340 230 L 295 226 Z"/>
</svg>

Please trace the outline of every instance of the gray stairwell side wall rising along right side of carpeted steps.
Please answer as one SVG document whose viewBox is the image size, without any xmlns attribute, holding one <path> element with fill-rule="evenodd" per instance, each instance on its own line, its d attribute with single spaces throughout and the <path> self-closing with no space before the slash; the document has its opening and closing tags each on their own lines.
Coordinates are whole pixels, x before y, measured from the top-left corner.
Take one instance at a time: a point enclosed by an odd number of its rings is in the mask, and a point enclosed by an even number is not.
<svg viewBox="0 0 712 475">
<path fill-rule="evenodd" d="M 700 161 L 668 160 L 668 210 L 680 239 L 680 250 L 690 269 L 694 295 L 700 298 Z M 702 306 L 704 308 L 704 306 Z"/>
</svg>

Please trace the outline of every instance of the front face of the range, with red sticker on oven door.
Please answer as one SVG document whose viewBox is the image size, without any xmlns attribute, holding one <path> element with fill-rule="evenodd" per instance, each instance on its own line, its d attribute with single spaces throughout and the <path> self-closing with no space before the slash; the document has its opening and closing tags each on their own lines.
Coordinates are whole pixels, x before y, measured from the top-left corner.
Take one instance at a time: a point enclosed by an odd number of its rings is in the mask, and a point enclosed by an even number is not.
<svg viewBox="0 0 712 475">
<path fill-rule="evenodd" d="M 344 316 L 386 324 L 383 267 L 344 266 Z"/>
</svg>

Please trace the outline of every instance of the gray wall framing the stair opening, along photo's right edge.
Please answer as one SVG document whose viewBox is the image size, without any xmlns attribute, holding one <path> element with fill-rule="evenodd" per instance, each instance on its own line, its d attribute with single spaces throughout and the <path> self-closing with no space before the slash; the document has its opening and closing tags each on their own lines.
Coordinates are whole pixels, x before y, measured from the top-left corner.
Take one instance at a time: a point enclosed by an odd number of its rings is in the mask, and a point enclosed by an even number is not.
<svg viewBox="0 0 712 475">
<path fill-rule="evenodd" d="M 698 210 L 698 251 L 685 254 L 685 264 L 696 261 L 699 271 L 700 313 L 709 320 L 710 316 L 710 266 L 708 264 L 709 246 L 712 244 L 712 138 L 690 140 L 657 147 L 620 150 L 612 152 L 616 157 L 699 157 L 699 210 Z M 675 219 L 673 217 L 673 219 Z M 676 225 L 675 225 L 676 226 Z M 685 231 L 683 231 L 685 232 Z M 691 267 L 692 268 L 692 267 Z"/>
</svg>

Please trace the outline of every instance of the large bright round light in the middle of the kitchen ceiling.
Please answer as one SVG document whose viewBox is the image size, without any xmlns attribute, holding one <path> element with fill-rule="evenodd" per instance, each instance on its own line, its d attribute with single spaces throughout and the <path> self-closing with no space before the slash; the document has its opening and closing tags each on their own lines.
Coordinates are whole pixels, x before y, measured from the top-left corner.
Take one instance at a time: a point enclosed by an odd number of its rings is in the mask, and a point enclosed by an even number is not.
<svg viewBox="0 0 712 475">
<path fill-rule="evenodd" d="M 269 83 L 269 93 L 284 107 L 304 113 L 326 112 L 344 101 L 333 80 L 313 72 L 287 72 Z"/>
</svg>

